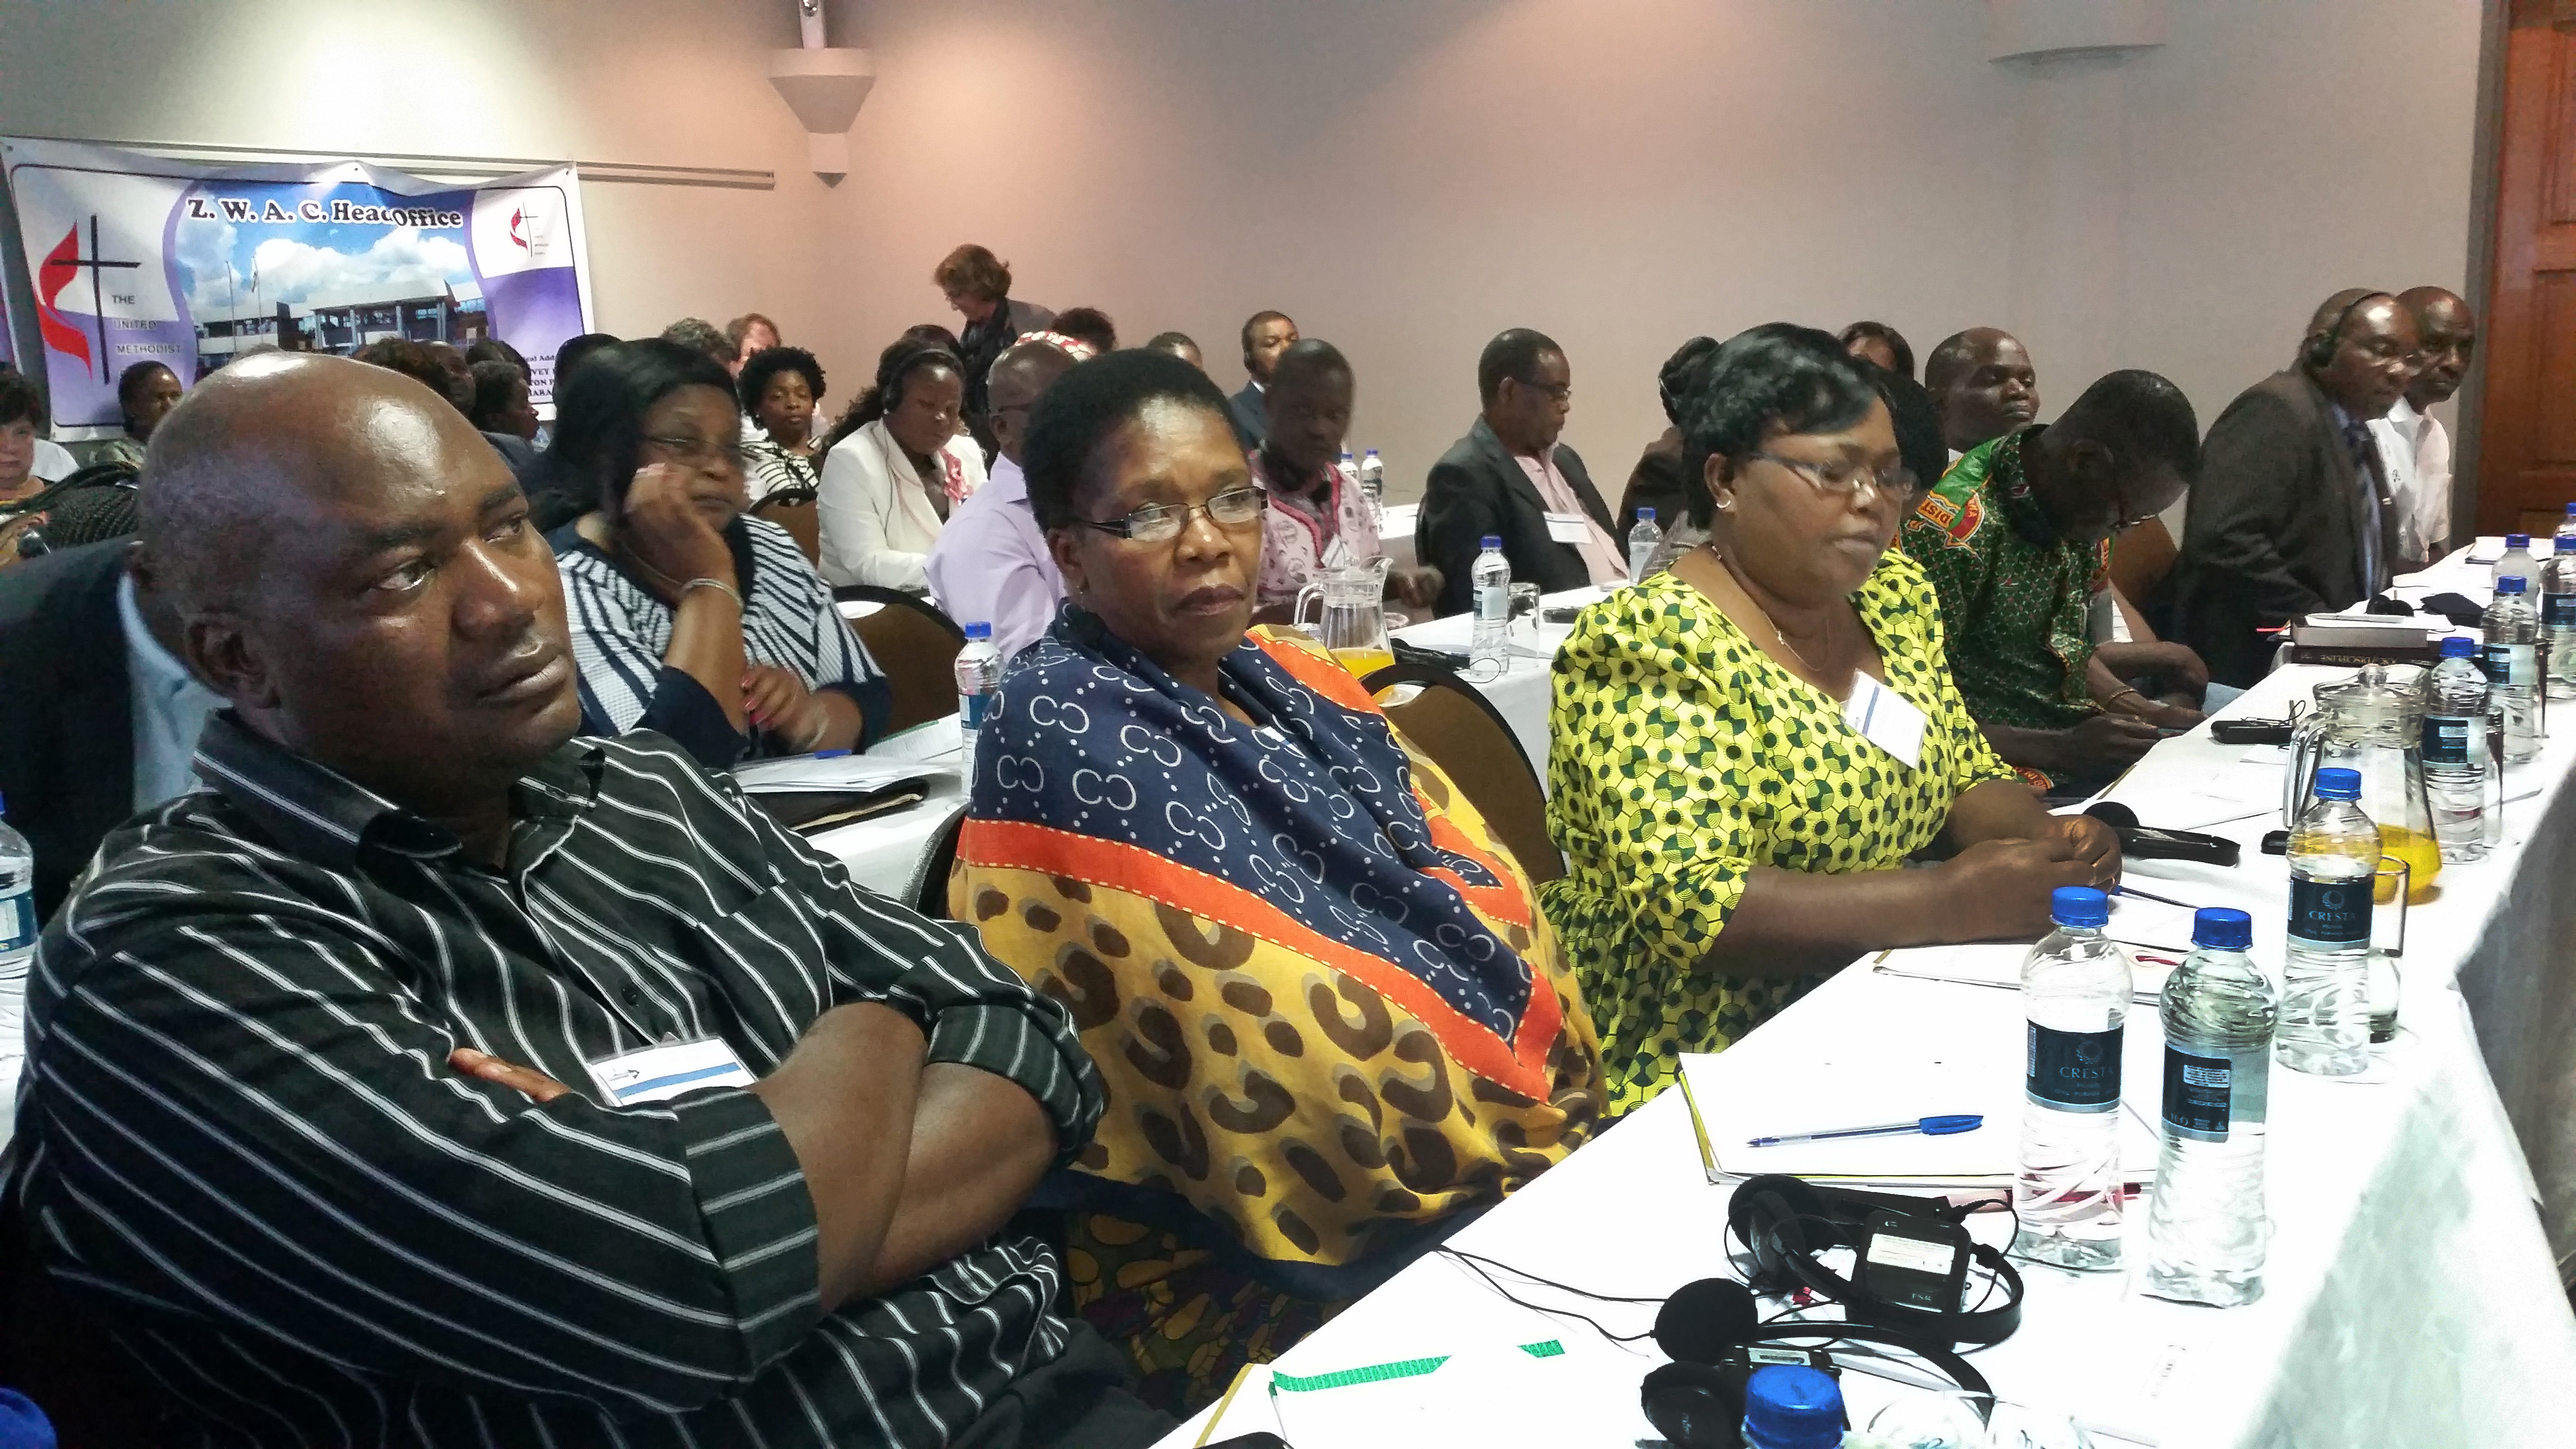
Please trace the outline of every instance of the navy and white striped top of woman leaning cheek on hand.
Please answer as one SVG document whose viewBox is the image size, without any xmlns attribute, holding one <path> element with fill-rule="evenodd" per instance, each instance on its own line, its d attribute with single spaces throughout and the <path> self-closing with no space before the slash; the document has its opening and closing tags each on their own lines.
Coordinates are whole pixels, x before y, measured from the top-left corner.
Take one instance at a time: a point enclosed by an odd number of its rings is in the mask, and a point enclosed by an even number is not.
<svg viewBox="0 0 2576 1449">
<path fill-rule="evenodd" d="M 799 740 L 778 740 L 752 727 L 744 737 L 724 717 L 716 696 L 693 676 L 662 663 L 670 652 L 672 606 L 636 583 L 574 523 L 546 536 L 564 575 L 564 616 L 572 621 L 572 663 L 582 673 L 582 730 L 626 735 L 659 730 L 701 766 L 721 771 L 744 755 L 793 753 Z M 724 529 L 742 588 L 742 657 L 778 665 L 806 688 L 850 696 L 860 712 L 858 748 L 886 732 L 894 688 L 868 647 L 832 603 L 832 585 L 814 572 L 786 529 L 765 518 L 734 518 Z"/>
</svg>

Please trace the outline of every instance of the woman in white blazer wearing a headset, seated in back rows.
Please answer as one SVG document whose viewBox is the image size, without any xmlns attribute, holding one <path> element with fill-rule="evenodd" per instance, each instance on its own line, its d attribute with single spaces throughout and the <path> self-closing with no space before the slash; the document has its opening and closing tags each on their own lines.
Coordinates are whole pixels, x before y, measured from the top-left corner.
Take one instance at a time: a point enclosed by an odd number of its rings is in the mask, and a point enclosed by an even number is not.
<svg viewBox="0 0 2576 1449">
<path fill-rule="evenodd" d="M 922 559 L 940 526 L 984 487 L 984 451 L 958 433 L 966 366 L 935 343 L 899 340 L 832 428 L 822 464 L 822 575 L 927 593 Z"/>
</svg>

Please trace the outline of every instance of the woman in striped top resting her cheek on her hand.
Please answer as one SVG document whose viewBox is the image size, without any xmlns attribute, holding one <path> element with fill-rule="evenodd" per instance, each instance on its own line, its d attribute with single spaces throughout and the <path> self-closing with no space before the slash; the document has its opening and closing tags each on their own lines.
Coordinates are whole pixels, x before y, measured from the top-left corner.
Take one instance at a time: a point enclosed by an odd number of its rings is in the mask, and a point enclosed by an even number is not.
<svg viewBox="0 0 2576 1449">
<path fill-rule="evenodd" d="M 544 456 L 582 730 L 659 730 L 706 768 L 866 748 L 891 706 L 832 588 L 744 518 L 734 379 L 665 343 L 582 361 Z"/>
</svg>

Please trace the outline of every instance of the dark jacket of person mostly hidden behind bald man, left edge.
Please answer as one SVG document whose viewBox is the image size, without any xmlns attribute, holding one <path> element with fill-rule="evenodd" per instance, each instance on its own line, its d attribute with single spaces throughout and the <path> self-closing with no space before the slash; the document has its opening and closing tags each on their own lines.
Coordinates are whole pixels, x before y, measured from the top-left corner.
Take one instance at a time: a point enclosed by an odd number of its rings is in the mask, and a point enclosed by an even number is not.
<svg viewBox="0 0 2576 1449">
<path fill-rule="evenodd" d="M 116 606 L 126 539 L 0 572 L 0 797 L 36 848 L 36 918 L 134 815 L 134 696 Z"/>
</svg>

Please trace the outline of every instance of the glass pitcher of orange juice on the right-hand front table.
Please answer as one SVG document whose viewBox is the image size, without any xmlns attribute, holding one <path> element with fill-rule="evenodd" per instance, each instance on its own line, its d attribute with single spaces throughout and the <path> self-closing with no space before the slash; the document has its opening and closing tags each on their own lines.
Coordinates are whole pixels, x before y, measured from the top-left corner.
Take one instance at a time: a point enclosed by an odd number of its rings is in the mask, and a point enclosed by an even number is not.
<svg viewBox="0 0 2576 1449">
<path fill-rule="evenodd" d="M 2298 825 L 2316 799 L 2321 766 L 2362 773 L 2360 804 L 2380 828 L 2380 851 L 2406 861 L 2406 900 L 2427 900 L 2442 874 L 2442 848 L 2432 835 L 2432 797 L 2424 794 L 2424 670 L 2370 665 L 2316 686 L 2316 704 L 2290 730 L 2280 802 L 2285 828 Z"/>
</svg>

